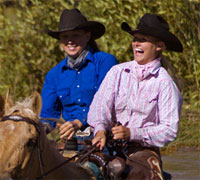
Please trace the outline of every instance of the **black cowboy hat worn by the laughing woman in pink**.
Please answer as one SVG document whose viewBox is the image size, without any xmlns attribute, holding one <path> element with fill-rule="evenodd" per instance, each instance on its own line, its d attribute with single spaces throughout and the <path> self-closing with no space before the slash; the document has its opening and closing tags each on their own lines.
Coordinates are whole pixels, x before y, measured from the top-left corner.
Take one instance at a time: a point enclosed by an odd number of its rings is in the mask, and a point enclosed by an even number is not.
<svg viewBox="0 0 200 180">
<path fill-rule="evenodd" d="M 168 23 L 161 16 L 146 13 L 140 19 L 140 22 L 135 30 L 132 30 L 126 22 L 121 24 L 121 28 L 131 35 L 140 33 L 156 37 L 165 43 L 167 50 L 183 52 L 183 46 L 181 42 L 169 31 Z"/>
</svg>

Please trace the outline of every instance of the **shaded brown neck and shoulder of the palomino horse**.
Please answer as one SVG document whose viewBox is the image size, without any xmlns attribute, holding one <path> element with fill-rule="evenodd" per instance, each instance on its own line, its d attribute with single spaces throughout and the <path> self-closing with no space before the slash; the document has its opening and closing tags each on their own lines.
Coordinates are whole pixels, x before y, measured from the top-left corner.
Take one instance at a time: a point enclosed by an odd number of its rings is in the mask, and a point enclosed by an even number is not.
<svg viewBox="0 0 200 180">
<path fill-rule="evenodd" d="M 40 150 L 42 168 L 40 167 L 39 153 L 37 148 L 34 150 L 33 163 L 31 165 L 31 173 L 28 177 L 31 179 L 38 178 L 43 173 L 47 173 L 53 170 L 55 167 L 61 165 L 66 159 L 55 149 L 53 144 L 47 139 L 44 132 L 41 133 L 40 137 Z M 46 176 L 47 179 L 91 179 L 91 174 L 85 169 L 75 165 L 74 163 L 68 162 L 61 167 L 53 170 Z M 44 178 L 43 178 L 44 179 Z"/>
</svg>

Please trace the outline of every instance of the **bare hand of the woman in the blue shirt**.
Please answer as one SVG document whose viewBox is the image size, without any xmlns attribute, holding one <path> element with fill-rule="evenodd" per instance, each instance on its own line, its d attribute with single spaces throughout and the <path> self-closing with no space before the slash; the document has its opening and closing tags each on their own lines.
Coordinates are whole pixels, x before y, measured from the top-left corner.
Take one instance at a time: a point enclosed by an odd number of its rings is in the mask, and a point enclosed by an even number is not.
<svg viewBox="0 0 200 180">
<path fill-rule="evenodd" d="M 64 124 L 57 124 L 60 130 L 60 138 L 67 137 L 67 139 L 71 139 L 74 133 L 79 130 L 83 124 L 78 119 L 74 121 L 67 121 Z"/>
</svg>

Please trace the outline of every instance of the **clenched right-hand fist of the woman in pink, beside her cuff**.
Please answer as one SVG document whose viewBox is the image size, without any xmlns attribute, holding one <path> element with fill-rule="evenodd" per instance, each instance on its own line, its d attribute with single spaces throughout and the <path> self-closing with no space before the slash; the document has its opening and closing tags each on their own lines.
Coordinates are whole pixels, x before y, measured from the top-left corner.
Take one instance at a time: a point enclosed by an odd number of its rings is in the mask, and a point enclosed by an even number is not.
<svg viewBox="0 0 200 180">
<path fill-rule="evenodd" d="M 130 129 L 126 126 L 115 126 L 112 129 L 113 139 L 130 139 Z"/>
</svg>

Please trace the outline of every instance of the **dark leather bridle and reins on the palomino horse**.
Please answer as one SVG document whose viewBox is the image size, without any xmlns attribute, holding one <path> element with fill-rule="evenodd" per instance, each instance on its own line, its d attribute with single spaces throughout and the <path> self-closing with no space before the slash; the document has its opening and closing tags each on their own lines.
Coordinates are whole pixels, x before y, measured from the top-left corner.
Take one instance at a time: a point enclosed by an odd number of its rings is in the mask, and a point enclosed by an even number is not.
<svg viewBox="0 0 200 180">
<path fill-rule="evenodd" d="M 18 116 L 18 115 L 10 115 L 10 116 L 3 116 L 1 121 L 0 122 L 3 122 L 3 121 L 8 121 L 8 120 L 11 120 L 11 121 L 14 121 L 14 122 L 26 122 L 26 123 L 29 123 L 29 124 L 32 124 L 37 133 L 38 133 L 38 137 L 36 139 L 36 143 L 35 143 L 35 146 L 32 150 L 32 153 L 31 153 L 31 158 L 30 158 L 30 162 L 33 160 L 33 151 L 35 148 L 37 148 L 37 152 L 38 152 L 38 160 L 39 160 L 39 165 L 40 165 L 40 171 L 41 171 L 41 176 L 39 177 L 36 177 L 34 178 L 34 180 L 39 180 L 39 179 L 43 179 L 45 178 L 47 175 L 49 175 L 50 173 L 52 173 L 53 171 L 55 171 L 56 169 L 62 167 L 63 165 L 65 165 L 66 163 L 72 161 L 73 159 L 75 159 L 76 157 L 79 157 L 81 155 L 83 155 L 81 157 L 81 159 L 79 161 L 77 161 L 77 164 L 80 163 L 85 157 L 89 156 L 91 153 L 93 153 L 95 150 L 96 150 L 96 144 L 94 145 L 91 145 L 90 147 L 88 147 L 87 149 L 77 153 L 76 155 L 72 156 L 71 158 L 65 160 L 64 162 L 62 162 L 61 164 L 55 166 L 54 168 L 48 170 L 47 172 L 44 172 L 43 170 L 43 162 L 42 162 L 42 155 L 41 155 L 41 148 L 40 148 L 40 135 L 41 135 L 41 132 L 40 132 L 40 127 L 39 127 L 39 124 L 36 123 L 35 121 L 33 121 L 32 119 L 28 118 L 28 117 L 22 117 L 22 116 Z M 98 142 L 97 142 L 98 143 Z M 30 179 L 30 178 L 26 178 L 26 179 Z"/>
</svg>

